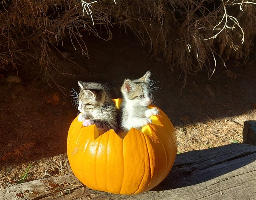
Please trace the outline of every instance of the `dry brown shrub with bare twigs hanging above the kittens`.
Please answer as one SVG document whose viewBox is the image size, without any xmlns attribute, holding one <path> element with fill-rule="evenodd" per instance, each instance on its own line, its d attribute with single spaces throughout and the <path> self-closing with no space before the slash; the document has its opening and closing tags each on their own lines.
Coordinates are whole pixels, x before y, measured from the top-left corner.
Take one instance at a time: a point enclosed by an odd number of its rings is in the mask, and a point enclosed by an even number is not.
<svg viewBox="0 0 256 200">
<path fill-rule="evenodd" d="M 0 64 L 16 67 L 16 60 L 26 56 L 23 48 L 29 47 L 42 69 L 52 66 L 59 71 L 51 54 L 57 45 L 63 46 L 63 38 L 70 38 L 87 55 L 82 32 L 99 38 L 107 34 L 109 40 L 110 27 L 119 26 L 132 30 L 152 56 L 185 74 L 205 66 L 210 77 L 215 69 L 211 59 L 225 63 L 231 56 L 248 58 L 256 33 L 255 4 L 255 0 L 2 0 Z"/>
</svg>

